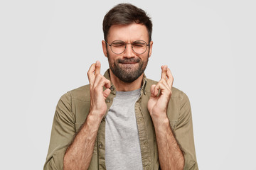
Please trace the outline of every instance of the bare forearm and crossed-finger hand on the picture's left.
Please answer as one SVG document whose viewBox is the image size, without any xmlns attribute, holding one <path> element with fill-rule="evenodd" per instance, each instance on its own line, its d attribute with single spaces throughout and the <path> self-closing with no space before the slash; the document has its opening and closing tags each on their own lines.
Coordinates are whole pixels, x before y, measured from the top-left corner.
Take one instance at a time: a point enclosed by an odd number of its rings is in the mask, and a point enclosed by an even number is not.
<svg viewBox="0 0 256 170">
<path fill-rule="evenodd" d="M 110 81 L 100 74 L 100 62 L 91 65 L 87 76 L 90 81 L 90 113 L 65 153 L 64 170 L 88 169 L 97 131 L 107 111 L 105 99 L 110 95 Z M 103 86 L 107 88 L 105 91 Z"/>
</svg>

